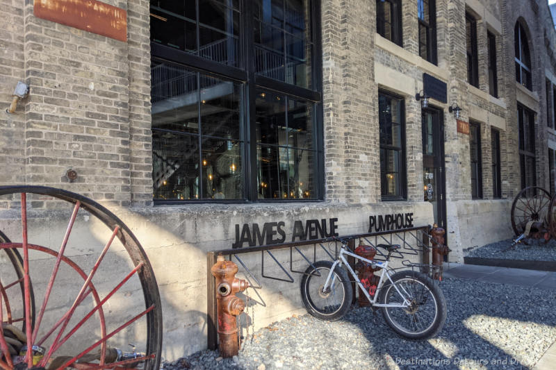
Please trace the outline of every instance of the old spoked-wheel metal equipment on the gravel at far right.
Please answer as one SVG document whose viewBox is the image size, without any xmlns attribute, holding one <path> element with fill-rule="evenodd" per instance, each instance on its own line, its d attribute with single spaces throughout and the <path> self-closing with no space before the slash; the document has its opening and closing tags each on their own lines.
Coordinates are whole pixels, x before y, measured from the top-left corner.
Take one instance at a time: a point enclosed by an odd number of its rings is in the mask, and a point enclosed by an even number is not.
<svg viewBox="0 0 556 370">
<path fill-rule="evenodd" d="M 512 203 L 512 228 L 516 235 L 513 248 L 524 239 L 544 239 L 548 242 L 555 236 L 555 217 L 551 217 L 555 199 L 542 187 L 525 187 Z M 555 208 L 556 210 L 556 208 Z"/>
</svg>

